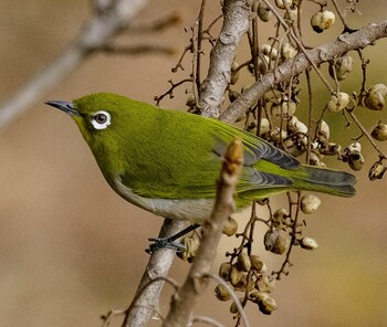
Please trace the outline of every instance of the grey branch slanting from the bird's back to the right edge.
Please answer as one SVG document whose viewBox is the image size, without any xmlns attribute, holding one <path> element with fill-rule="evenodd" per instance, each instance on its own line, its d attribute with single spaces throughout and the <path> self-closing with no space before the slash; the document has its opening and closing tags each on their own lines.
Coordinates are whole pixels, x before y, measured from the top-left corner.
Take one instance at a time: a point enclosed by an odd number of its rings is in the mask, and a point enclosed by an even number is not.
<svg viewBox="0 0 387 327">
<path fill-rule="evenodd" d="M 306 51 L 307 57 L 316 65 L 333 60 L 351 50 L 363 49 L 375 43 L 376 40 L 387 36 L 387 20 L 372 23 L 357 32 L 341 34 L 335 41 Z M 292 75 L 304 72 L 310 62 L 301 53 L 278 66 L 273 72 L 263 75 L 244 93 L 242 93 L 221 115 L 220 119 L 233 123 L 247 109 L 252 107 L 266 92 L 280 83 L 286 82 Z"/>
</svg>

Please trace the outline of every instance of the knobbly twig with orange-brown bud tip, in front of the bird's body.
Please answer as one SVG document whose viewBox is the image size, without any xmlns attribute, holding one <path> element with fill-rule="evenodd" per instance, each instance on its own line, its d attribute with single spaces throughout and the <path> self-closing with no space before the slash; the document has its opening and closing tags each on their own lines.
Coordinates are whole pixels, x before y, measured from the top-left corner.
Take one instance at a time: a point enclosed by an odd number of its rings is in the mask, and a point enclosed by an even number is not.
<svg viewBox="0 0 387 327">
<path fill-rule="evenodd" d="M 218 243 L 227 219 L 233 212 L 233 197 L 243 159 L 242 140 L 236 139 L 227 149 L 218 183 L 212 214 L 202 225 L 202 239 L 186 282 L 172 297 L 170 310 L 163 326 L 190 326 L 197 297 L 207 288 Z"/>
</svg>

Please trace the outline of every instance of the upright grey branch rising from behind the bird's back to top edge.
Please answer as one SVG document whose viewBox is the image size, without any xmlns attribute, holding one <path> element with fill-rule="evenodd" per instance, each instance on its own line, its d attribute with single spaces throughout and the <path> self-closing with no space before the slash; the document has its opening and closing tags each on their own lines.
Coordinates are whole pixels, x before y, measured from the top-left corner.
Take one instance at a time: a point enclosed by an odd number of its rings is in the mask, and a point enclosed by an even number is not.
<svg viewBox="0 0 387 327">
<path fill-rule="evenodd" d="M 250 2 L 249 0 L 224 1 L 223 25 L 211 50 L 207 78 L 200 85 L 198 106 L 203 116 L 219 117 L 219 108 L 231 78 L 231 64 L 236 57 L 238 44 L 249 28 Z"/>
</svg>

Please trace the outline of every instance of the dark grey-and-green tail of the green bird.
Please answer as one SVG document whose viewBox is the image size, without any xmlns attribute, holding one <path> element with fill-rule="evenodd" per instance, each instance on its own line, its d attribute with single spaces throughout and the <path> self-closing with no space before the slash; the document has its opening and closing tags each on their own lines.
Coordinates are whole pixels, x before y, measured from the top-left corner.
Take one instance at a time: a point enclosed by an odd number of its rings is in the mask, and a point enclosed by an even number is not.
<svg viewBox="0 0 387 327">
<path fill-rule="evenodd" d="M 352 173 L 314 166 L 303 166 L 302 171 L 302 175 L 296 173 L 293 178 L 296 189 L 339 197 L 353 197 L 356 193 L 356 177 Z"/>
</svg>

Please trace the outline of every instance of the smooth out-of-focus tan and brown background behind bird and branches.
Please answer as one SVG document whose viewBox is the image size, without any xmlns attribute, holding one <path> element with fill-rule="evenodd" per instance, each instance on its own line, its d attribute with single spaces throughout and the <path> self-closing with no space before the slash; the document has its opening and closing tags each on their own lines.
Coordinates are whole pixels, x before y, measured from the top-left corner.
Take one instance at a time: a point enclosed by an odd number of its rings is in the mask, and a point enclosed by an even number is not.
<svg viewBox="0 0 387 327">
<path fill-rule="evenodd" d="M 9 98 L 69 46 L 92 15 L 91 2 L 2 0 L 0 101 Z M 344 7 L 346 1 L 338 3 Z M 174 75 L 170 68 L 188 44 L 190 33 L 184 28 L 189 30 L 199 7 L 200 1 L 194 0 L 149 1 L 138 22 L 148 23 L 175 11 L 182 22 L 160 34 L 124 34 L 119 42 L 168 45 L 176 49 L 176 55 L 93 55 L 0 130 L 0 326 L 100 326 L 101 315 L 129 304 L 148 260 L 144 252 L 147 239 L 158 234 L 163 220 L 116 196 L 75 124 L 43 103 L 101 91 L 153 103 L 155 95 L 169 87 L 168 80 L 176 82 L 185 76 Z M 312 11 L 317 9 L 311 7 Z M 348 14 L 352 28 L 386 19 L 384 0 L 360 1 L 358 9 L 362 14 Z M 205 24 L 219 14 L 218 1 L 208 3 Z M 335 38 L 342 27 L 337 21 L 321 35 L 312 33 L 308 24 L 304 30 L 308 44 L 316 45 Z M 263 42 L 270 32 L 269 28 L 264 30 Z M 387 84 L 386 51 L 385 40 L 365 51 L 372 63 L 368 85 Z M 243 61 L 247 55 L 247 44 L 242 44 L 238 56 Z M 359 89 L 356 63 L 356 72 L 343 84 L 348 93 Z M 185 65 L 189 72 L 189 57 Z M 317 98 L 322 107 L 327 91 L 316 82 L 316 107 Z M 186 98 L 182 87 L 161 105 L 185 109 Z M 386 123 L 386 112 L 358 112 L 367 128 L 378 119 Z M 343 129 L 333 140 L 347 144 L 359 133 L 355 126 L 345 133 L 341 119 L 327 117 Z M 380 148 L 387 151 L 385 144 Z M 369 147 L 364 155 L 366 165 L 357 172 L 358 194 L 353 199 L 322 197 L 320 211 L 307 218 L 304 230 L 305 235 L 316 239 L 320 249 L 313 253 L 295 249 L 294 266 L 273 293 L 279 309 L 268 317 L 250 306 L 253 325 L 387 326 L 386 180 L 368 181 L 367 170 L 377 156 Z M 344 164 L 336 167 L 349 170 Z M 283 198 L 275 201 L 280 205 Z M 245 219 L 243 214 L 237 217 Z M 263 235 L 264 229 L 258 233 Z M 231 246 L 230 240 L 222 241 L 215 272 Z M 280 266 L 281 259 L 263 253 L 261 244 L 255 246 L 270 270 Z M 188 267 L 176 260 L 171 276 L 182 282 Z M 160 307 L 164 313 L 169 296 L 170 289 L 166 289 Z M 196 313 L 232 326 L 229 305 L 216 300 L 210 289 Z"/>
</svg>

